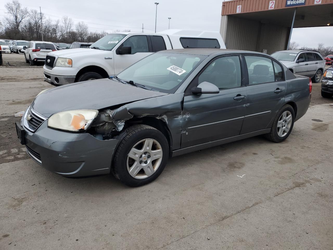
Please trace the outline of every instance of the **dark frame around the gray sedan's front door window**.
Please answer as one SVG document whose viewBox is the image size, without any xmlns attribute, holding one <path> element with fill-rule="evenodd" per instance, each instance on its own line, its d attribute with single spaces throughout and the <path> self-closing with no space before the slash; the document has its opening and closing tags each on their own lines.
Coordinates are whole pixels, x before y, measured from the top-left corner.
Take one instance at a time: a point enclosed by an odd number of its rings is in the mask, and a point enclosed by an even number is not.
<svg viewBox="0 0 333 250">
<path fill-rule="evenodd" d="M 198 82 L 198 79 L 199 79 L 199 75 L 201 73 L 203 73 L 215 60 L 219 59 L 219 58 L 222 58 L 222 57 L 230 57 L 230 56 L 238 56 L 239 58 L 239 63 L 240 63 L 240 79 L 241 79 L 241 82 L 240 82 L 240 86 L 238 87 L 234 87 L 234 88 L 226 88 L 226 89 L 236 89 L 236 88 L 241 88 L 241 87 L 245 87 L 246 85 L 244 85 L 246 82 L 244 82 L 244 76 L 243 76 L 243 71 L 244 71 L 244 68 L 243 68 L 243 63 L 242 63 L 242 60 L 241 60 L 241 54 L 237 53 L 237 54 L 226 54 L 226 55 L 219 55 L 219 56 L 216 56 L 214 58 L 212 58 L 209 62 L 206 63 L 206 65 L 199 71 L 199 73 L 196 74 L 196 76 L 193 78 L 193 80 L 187 85 L 185 91 L 184 91 L 184 96 L 189 96 L 189 95 L 195 95 L 191 92 L 191 89 L 193 87 L 197 87 L 199 85 L 199 82 Z M 247 69 L 246 69 L 247 70 Z M 247 80 L 248 82 L 248 80 Z M 226 89 L 220 89 L 220 92 L 223 91 L 223 90 L 226 90 Z"/>
</svg>

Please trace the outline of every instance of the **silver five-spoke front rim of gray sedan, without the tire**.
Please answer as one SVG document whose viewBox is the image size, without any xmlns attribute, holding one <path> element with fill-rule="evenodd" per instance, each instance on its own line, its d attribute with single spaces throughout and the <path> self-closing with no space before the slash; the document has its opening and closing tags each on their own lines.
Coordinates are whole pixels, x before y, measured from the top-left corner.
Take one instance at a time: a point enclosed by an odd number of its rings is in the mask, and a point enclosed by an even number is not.
<svg viewBox="0 0 333 250">
<path fill-rule="evenodd" d="M 163 150 L 154 139 L 143 139 L 136 143 L 127 156 L 127 171 L 136 179 L 153 175 L 161 165 Z"/>
</svg>

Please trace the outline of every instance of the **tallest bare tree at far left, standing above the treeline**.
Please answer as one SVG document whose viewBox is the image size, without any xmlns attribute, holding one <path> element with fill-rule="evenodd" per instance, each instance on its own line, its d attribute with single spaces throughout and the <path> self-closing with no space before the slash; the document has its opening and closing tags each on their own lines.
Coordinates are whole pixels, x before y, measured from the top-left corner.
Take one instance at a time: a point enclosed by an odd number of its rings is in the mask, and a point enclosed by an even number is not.
<svg viewBox="0 0 333 250">
<path fill-rule="evenodd" d="M 22 8 L 17 0 L 13 0 L 11 3 L 6 3 L 5 8 L 7 10 L 6 13 L 11 16 L 5 17 L 6 22 L 19 32 L 20 24 L 28 16 L 28 9 Z"/>
</svg>

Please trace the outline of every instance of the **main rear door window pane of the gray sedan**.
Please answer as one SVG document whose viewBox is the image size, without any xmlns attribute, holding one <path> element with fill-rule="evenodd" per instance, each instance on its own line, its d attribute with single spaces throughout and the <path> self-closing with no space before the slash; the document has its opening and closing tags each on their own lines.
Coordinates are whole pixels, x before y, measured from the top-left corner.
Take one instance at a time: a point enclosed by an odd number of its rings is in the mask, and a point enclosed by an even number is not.
<svg viewBox="0 0 333 250">
<path fill-rule="evenodd" d="M 272 60 L 261 56 L 245 56 L 249 85 L 274 82 Z"/>
</svg>

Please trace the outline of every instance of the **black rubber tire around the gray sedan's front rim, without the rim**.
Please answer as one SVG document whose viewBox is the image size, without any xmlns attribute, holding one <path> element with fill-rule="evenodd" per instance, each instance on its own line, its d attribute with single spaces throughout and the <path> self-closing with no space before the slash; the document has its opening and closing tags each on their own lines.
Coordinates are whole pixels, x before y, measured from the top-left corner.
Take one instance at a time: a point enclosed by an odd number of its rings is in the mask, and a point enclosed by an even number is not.
<svg viewBox="0 0 333 250">
<path fill-rule="evenodd" d="M 126 136 L 126 135 L 125 135 Z M 130 150 L 134 147 L 135 144 L 137 144 L 139 141 L 143 139 L 155 139 L 158 141 L 162 147 L 163 150 L 163 158 L 161 161 L 161 164 L 157 171 L 145 178 L 145 179 L 136 179 L 130 175 L 130 173 L 127 170 L 127 157 L 130 152 Z M 157 129 L 145 129 L 144 131 L 141 131 L 139 133 L 136 133 L 135 135 L 131 136 L 126 144 L 122 147 L 119 148 L 117 147 L 116 150 L 119 150 L 119 157 L 114 159 L 113 165 L 115 168 L 115 172 L 117 173 L 117 177 L 124 182 L 126 185 L 131 186 L 131 187 L 138 187 L 145 185 L 149 182 L 152 182 L 155 180 L 159 175 L 162 173 L 164 170 L 168 156 L 169 156 L 169 145 L 168 142 L 165 138 L 165 136 Z"/>
</svg>

